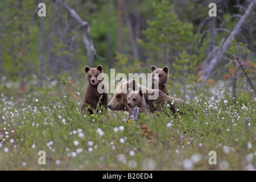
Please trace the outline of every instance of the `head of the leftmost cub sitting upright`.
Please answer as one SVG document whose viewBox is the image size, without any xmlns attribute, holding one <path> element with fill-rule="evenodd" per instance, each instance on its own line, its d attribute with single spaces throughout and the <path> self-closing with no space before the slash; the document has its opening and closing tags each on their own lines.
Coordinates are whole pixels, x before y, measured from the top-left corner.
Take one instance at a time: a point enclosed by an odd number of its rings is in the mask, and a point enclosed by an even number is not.
<svg viewBox="0 0 256 182">
<path fill-rule="evenodd" d="M 102 65 L 98 65 L 97 68 L 85 67 L 86 78 L 90 85 L 97 86 L 102 80 L 98 80 L 98 75 L 103 73 Z"/>
</svg>

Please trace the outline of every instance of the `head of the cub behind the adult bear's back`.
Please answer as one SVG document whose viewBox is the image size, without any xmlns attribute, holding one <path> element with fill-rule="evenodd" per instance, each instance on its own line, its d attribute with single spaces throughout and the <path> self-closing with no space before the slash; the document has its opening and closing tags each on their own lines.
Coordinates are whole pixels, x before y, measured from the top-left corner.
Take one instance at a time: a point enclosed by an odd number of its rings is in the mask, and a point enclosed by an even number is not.
<svg viewBox="0 0 256 182">
<path fill-rule="evenodd" d="M 169 68 L 157 68 L 154 65 L 151 66 L 151 73 L 152 73 L 152 84 L 158 84 L 163 86 L 167 83 L 168 76 L 169 76 Z"/>
</svg>

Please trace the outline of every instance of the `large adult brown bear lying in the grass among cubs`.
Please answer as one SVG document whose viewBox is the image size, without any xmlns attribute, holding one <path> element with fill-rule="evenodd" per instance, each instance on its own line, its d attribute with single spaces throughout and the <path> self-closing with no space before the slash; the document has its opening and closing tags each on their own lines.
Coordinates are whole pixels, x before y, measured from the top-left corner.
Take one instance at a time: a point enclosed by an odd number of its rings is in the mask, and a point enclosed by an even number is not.
<svg viewBox="0 0 256 182">
<path fill-rule="evenodd" d="M 172 113 L 180 113 L 180 110 L 177 110 L 177 107 L 187 105 L 187 102 L 183 102 L 182 100 L 175 97 L 167 96 L 167 94 L 161 90 L 148 89 L 138 84 L 135 79 L 130 81 L 123 79 L 121 81 L 121 85 L 115 89 L 114 96 L 109 102 L 108 107 L 111 110 L 129 111 L 129 106 L 127 105 L 127 95 L 129 88 L 132 90 L 142 90 L 142 93 L 144 94 L 144 100 L 149 107 L 149 111 L 152 113 L 155 111 L 162 112 L 166 104 L 168 104 L 168 107 Z"/>
</svg>

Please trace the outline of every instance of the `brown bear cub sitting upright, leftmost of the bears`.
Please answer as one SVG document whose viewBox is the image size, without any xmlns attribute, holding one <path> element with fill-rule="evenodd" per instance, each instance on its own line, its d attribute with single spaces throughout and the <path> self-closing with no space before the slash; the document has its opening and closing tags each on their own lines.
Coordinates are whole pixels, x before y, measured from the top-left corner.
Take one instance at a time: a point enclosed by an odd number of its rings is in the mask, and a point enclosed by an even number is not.
<svg viewBox="0 0 256 182">
<path fill-rule="evenodd" d="M 88 80 L 88 86 L 85 90 L 85 96 L 84 99 L 82 100 L 82 105 L 81 105 L 81 113 L 85 114 L 86 106 L 90 106 L 90 108 L 87 110 L 90 114 L 93 114 L 93 109 L 96 109 L 98 102 L 100 101 L 100 107 L 102 109 L 102 105 L 107 109 L 108 107 L 108 93 L 106 90 L 106 86 L 104 85 L 104 82 L 102 82 L 103 79 L 98 80 L 98 75 L 103 73 L 103 67 L 102 65 L 98 65 L 97 68 L 89 68 L 85 67 L 84 68 L 86 78 Z M 102 82 L 102 83 L 101 83 Z M 98 85 L 101 83 L 101 89 L 104 90 L 103 93 L 98 92 Z M 102 110 L 101 110 L 102 111 Z"/>
</svg>

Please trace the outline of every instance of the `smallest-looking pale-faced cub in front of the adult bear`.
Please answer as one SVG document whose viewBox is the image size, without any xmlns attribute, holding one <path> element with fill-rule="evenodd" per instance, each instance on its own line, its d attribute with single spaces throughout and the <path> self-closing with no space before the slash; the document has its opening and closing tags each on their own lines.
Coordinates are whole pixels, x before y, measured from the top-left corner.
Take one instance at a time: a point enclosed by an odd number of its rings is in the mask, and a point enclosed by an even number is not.
<svg viewBox="0 0 256 182">
<path fill-rule="evenodd" d="M 127 95 L 127 105 L 130 107 L 129 119 L 131 119 L 133 107 L 135 106 L 139 107 L 139 113 L 150 114 L 150 112 L 148 111 L 149 107 L 144 100 L 144 94 L 142 93 L 141 89 L 138 92 L 133 91 L 129 88 L 128 93 L 129 94 Z"/>
</svg>

